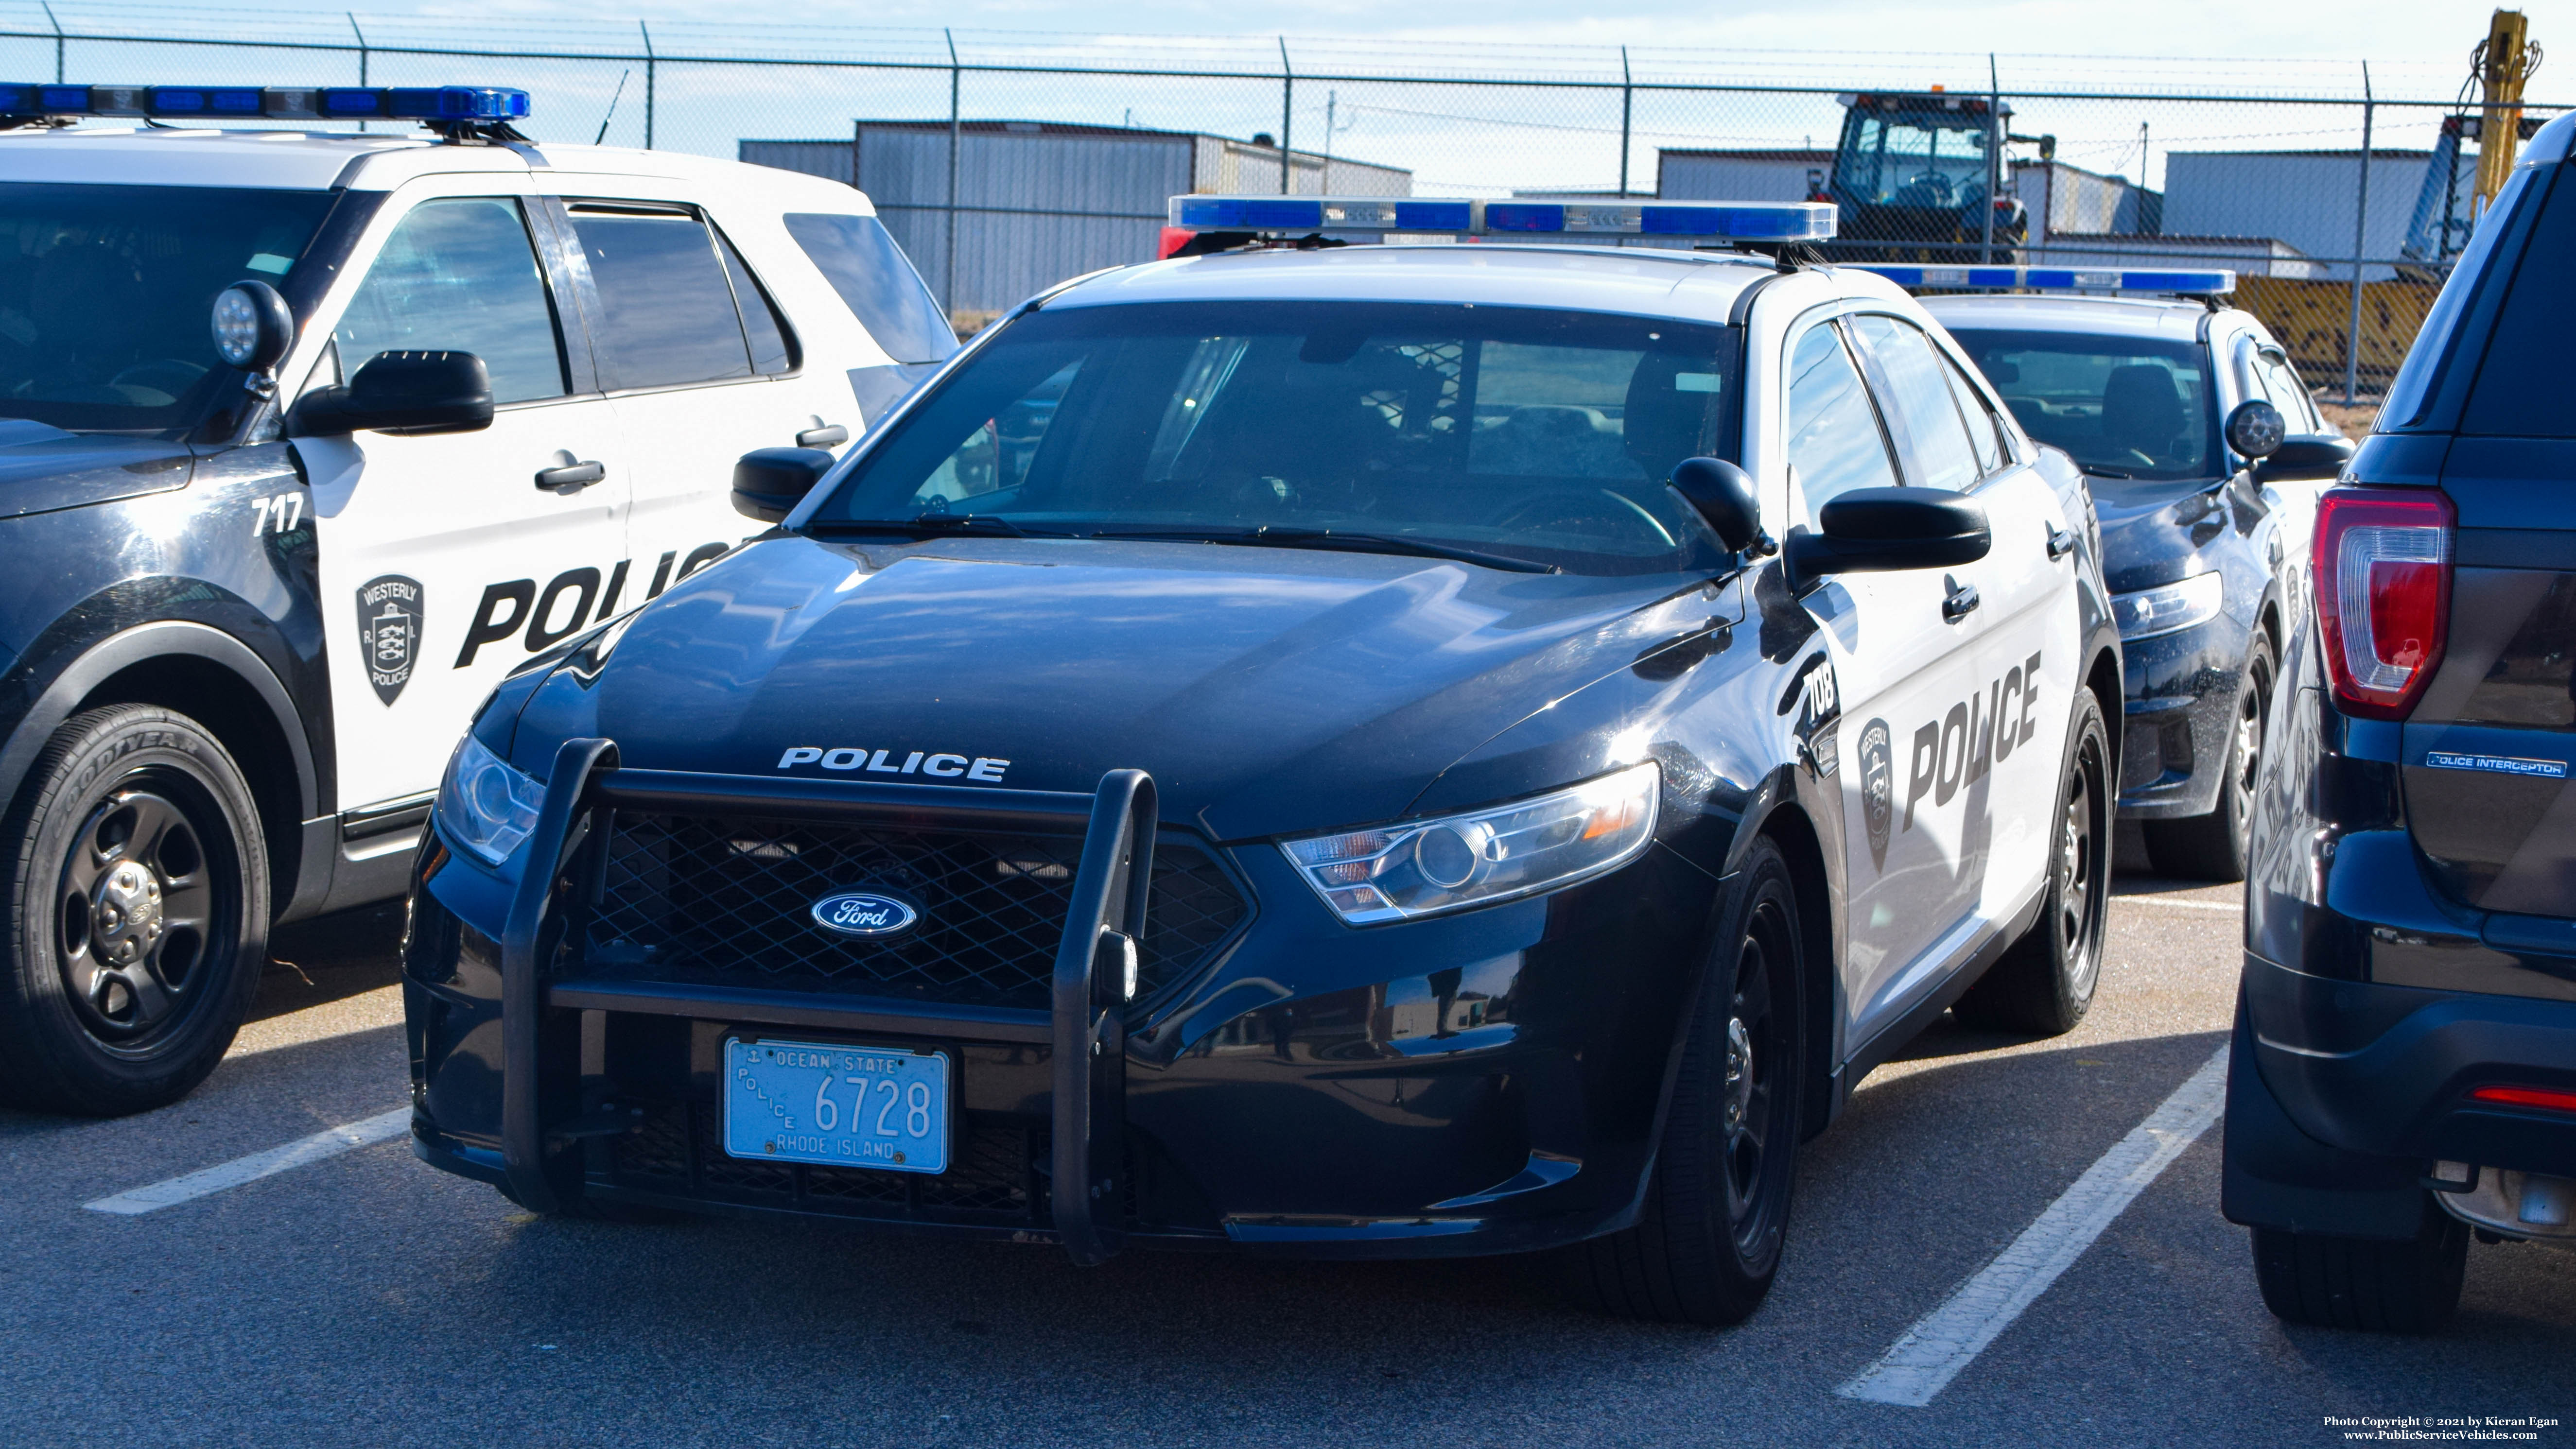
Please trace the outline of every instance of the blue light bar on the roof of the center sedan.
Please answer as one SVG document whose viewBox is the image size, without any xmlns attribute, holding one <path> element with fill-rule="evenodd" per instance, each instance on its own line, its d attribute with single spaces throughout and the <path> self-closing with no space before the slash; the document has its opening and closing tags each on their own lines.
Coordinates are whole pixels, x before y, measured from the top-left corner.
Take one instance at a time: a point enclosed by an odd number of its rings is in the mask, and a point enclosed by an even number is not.
<svg viewBox="0 0 2576 1449">
<path fill-rule="evenodd" d="M 1450 237 L 1667 237 L 1708 242 L 1829 242 L 1824 201 L 1471 201 L 1399 196 L 1175 196 L 1190 232 L 1430 232 Z"/>
</svg>

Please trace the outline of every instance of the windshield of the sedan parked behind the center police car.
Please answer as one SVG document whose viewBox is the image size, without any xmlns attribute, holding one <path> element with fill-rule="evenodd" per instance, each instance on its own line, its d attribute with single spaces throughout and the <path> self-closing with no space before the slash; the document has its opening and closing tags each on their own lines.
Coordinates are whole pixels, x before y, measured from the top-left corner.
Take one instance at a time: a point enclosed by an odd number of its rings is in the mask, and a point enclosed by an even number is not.
<svg viewBox="0 0 2576 1449">
<path fill-rule="evenodd" d="M 2218 409 L 2192 342 L 1950 327 L 2022 430 L 2099 479 L 2215 479 Z"/>
</svg>

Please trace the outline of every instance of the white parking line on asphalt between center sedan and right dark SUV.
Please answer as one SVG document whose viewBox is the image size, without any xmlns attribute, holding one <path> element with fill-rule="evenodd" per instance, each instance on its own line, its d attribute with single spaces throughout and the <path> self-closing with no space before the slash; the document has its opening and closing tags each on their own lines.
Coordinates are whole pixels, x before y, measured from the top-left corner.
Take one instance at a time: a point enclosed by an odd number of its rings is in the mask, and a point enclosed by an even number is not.
<svg viewBox="0 0 2576 1449">
<path fill-rule="evenodd" d="M 2190 1081 L 2174 1089 L 2146 1122 L 2120 1138 L 2094 1166 L 2084 1168 L 2048 1212 L 1984 1271 L 1960 1284 L 1932 1313 L 1922 1315 L 1875 1364 L 1837 1387 L 1842 1398 L 1901 1403 L 1922 1408 L 1994 1343 L 2025 1307 L 2058 1282 L 2084 1248 L 2128 1210 L 2146 1184 L 2156 1181 L 2182 1148 L 2210 1130 L 2226 1104 L 2228 1050 L 2218 1048 Z"/>
</svg>

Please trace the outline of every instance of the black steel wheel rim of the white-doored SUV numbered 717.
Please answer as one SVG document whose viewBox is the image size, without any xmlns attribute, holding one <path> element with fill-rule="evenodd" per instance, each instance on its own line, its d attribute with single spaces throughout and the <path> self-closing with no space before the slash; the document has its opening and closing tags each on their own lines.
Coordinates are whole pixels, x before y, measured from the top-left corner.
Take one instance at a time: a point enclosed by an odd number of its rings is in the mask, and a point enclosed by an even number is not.
<svg viewBox="0 0 2576 1449">
<path fill-rule="evenodd" d="M 90 1040 L 149 1050 L 219 993 L 242 909 L 227 847 L 214 800 L 160 770 L 126 775 L 80 821 L 54 888 L 54 957 Z"/>
</svg>

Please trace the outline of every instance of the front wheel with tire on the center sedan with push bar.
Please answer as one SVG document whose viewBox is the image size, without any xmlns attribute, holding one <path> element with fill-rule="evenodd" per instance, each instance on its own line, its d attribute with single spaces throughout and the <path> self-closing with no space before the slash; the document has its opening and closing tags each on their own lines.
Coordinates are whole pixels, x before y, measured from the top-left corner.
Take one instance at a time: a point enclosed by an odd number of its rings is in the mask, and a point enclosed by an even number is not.
<svg viewBox="0 0 2576 1449">
<path fill-rule="evenodd" d="M 1662 1323 L 1744 1323 L 1788 1235 L 1806 1099 L 1806 996 L 1788 862 L 1762 839 L 1703 963 L 1643 1217 L 1577 1243 L 1577 1302 Z"/>
</svg>

